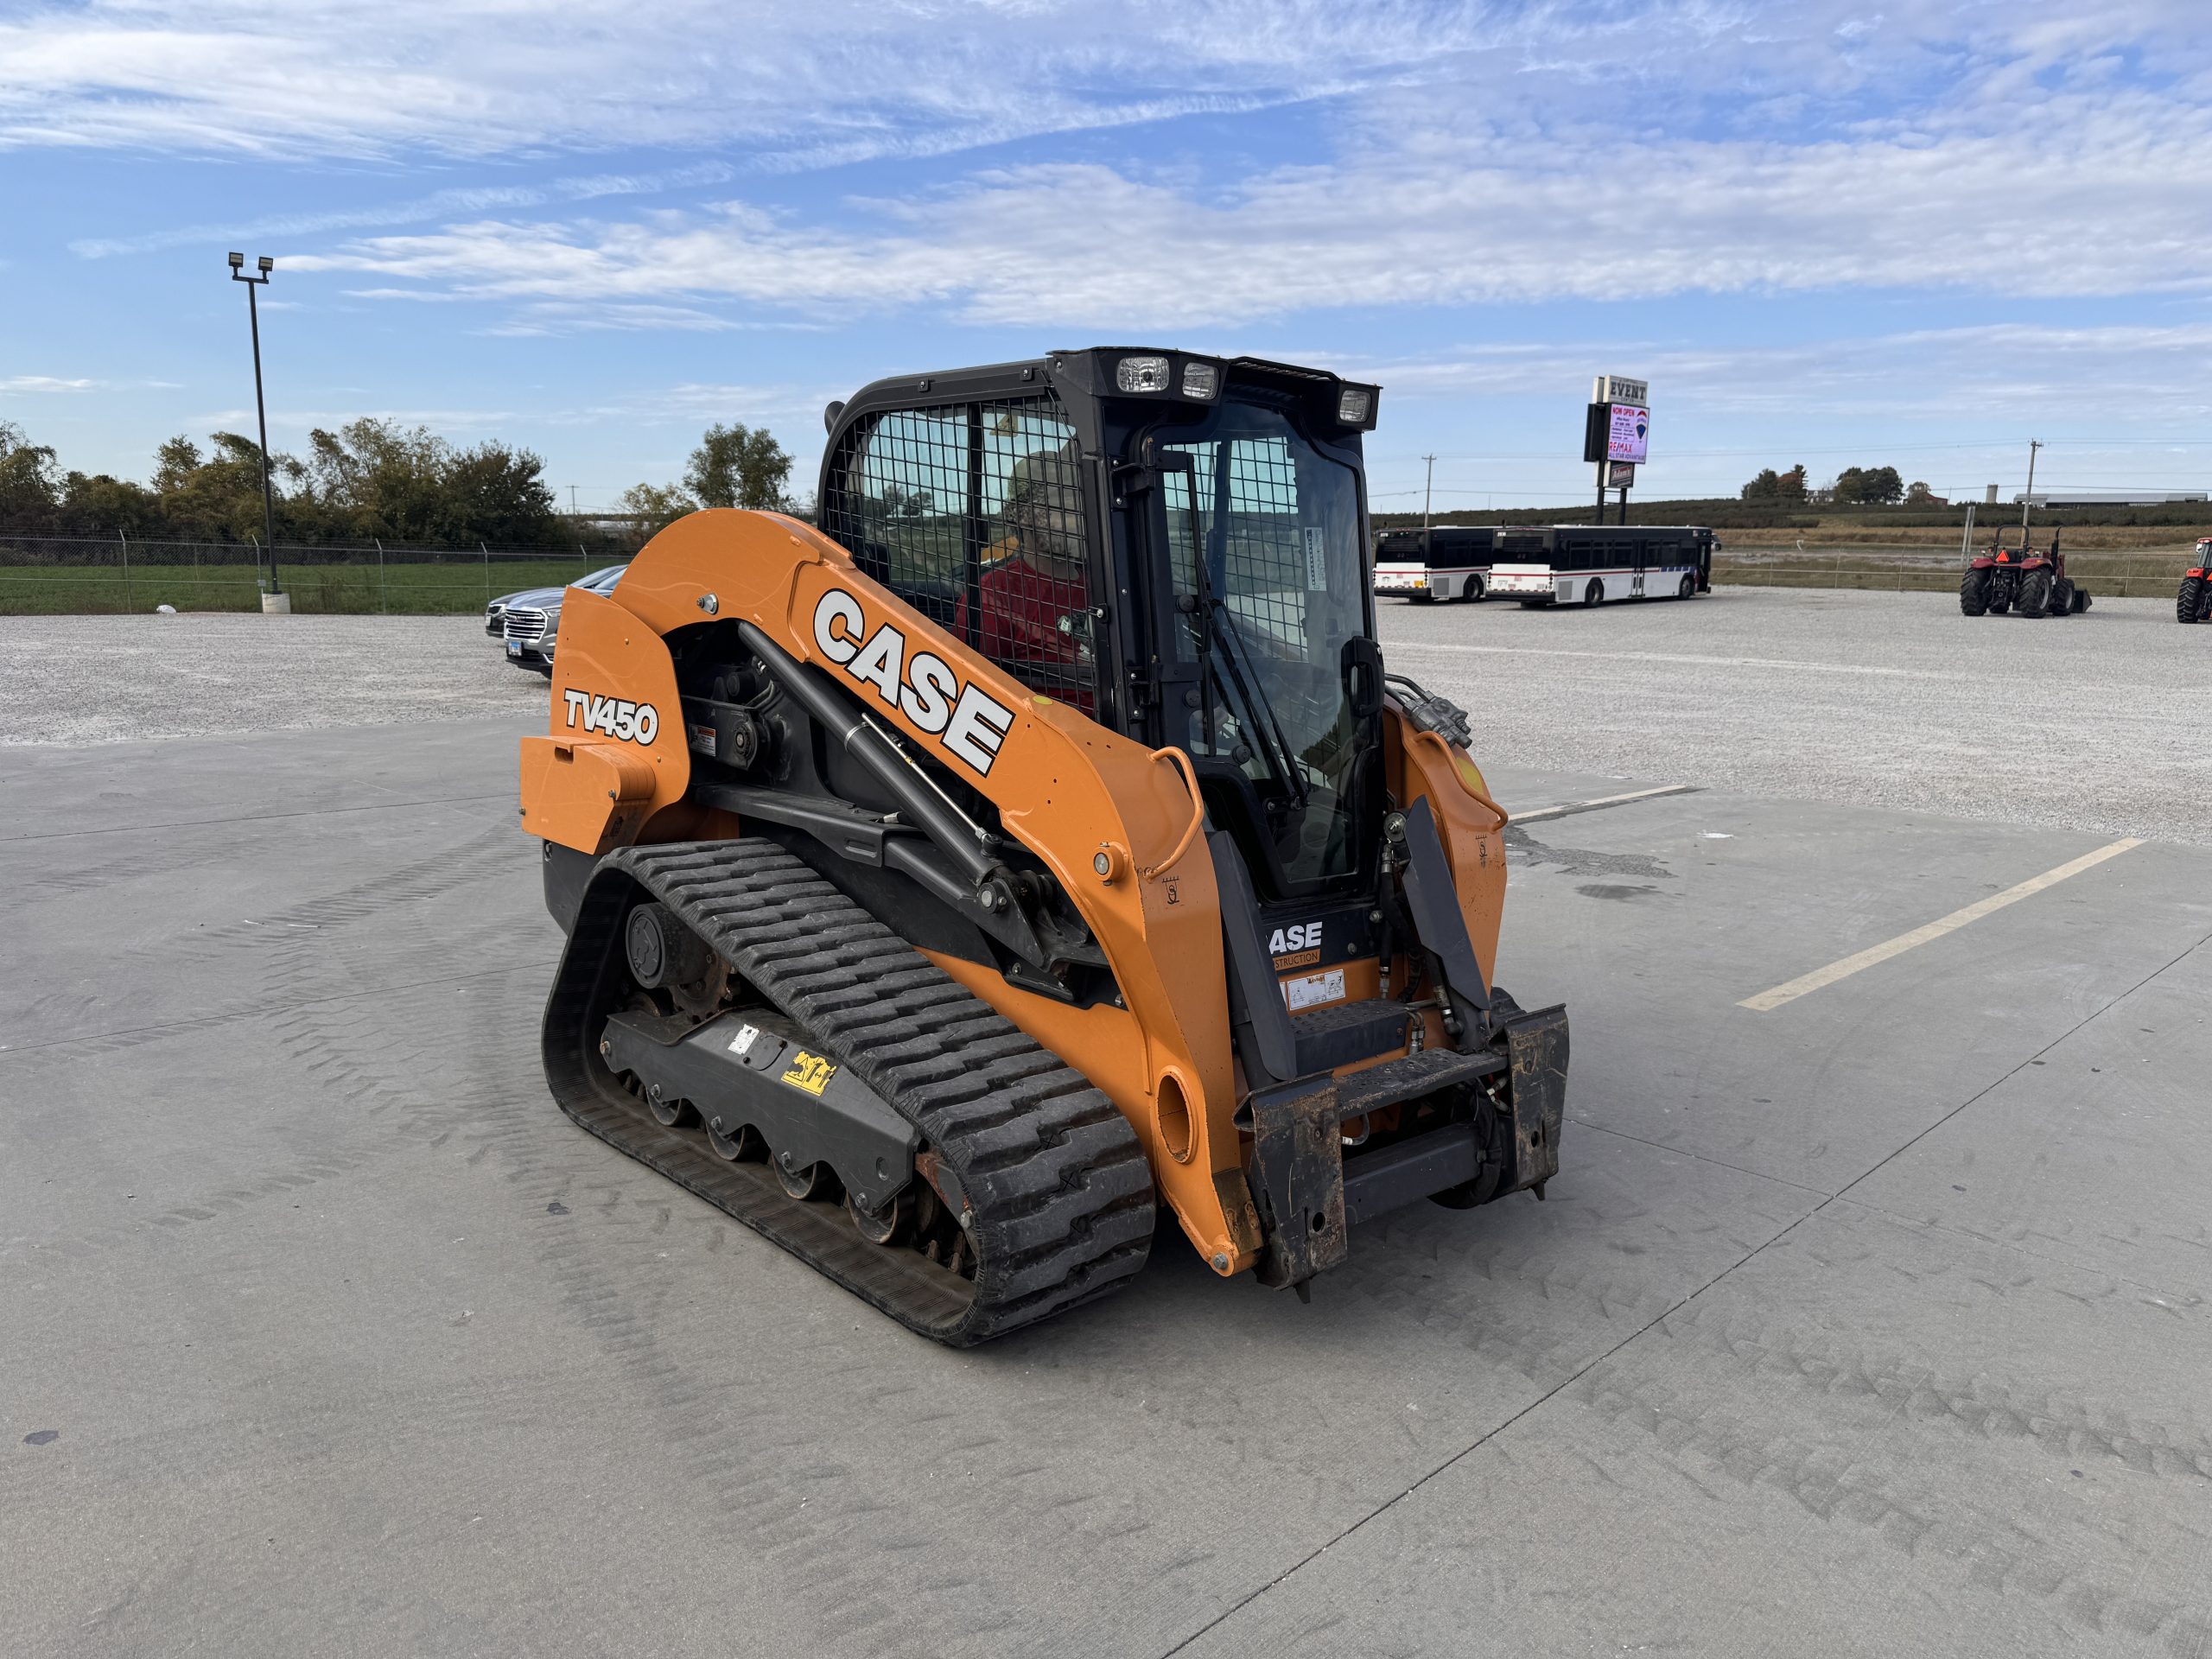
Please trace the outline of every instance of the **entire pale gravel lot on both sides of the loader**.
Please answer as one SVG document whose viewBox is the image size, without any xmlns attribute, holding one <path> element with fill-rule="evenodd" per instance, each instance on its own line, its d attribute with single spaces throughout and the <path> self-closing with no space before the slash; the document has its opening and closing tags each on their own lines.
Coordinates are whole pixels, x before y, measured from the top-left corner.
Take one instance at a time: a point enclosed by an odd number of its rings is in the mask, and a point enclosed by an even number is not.
<svg viewBox="0 0 2212 1659">
<path fill-rule="evenodd" d="M 1971 622 L 1942 595 L 1380 606 L 1493 765 L 2212 841 L 2212 630 L 2163 599 Z M 0 743 L 529 714 L 471 617 L 0 617 Z"/>
</svg>

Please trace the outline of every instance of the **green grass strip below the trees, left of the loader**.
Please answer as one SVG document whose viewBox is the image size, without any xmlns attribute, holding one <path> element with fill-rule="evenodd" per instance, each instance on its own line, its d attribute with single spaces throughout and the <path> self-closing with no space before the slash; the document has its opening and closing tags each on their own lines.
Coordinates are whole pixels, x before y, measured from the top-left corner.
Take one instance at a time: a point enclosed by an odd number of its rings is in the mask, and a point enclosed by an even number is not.
<svg viewBox="0 0 2212 1659">
<path fill-rule="evenodd" d="M 279 577 L 301 613 L 451 615 L 518 588 L 555 586 L 608 564 L 582 557 L 491 560 L 451 564 L 283 564 Z M 259 611 L 252 564 L 4 564 L 0 615 L 153 611 Z"/>
</svg>

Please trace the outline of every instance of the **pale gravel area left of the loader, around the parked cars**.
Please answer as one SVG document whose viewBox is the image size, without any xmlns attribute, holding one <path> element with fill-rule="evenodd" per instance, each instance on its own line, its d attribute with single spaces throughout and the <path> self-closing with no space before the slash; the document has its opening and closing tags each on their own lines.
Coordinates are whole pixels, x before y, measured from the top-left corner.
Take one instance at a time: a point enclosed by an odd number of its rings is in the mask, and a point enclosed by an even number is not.
<svg viewBox="0 0 2212 1659">
<path fill-rule="evenodd" d="M 405 726 L 546 706 L 478 617 L 0 617 L 0 743 Z"/>
</svg>

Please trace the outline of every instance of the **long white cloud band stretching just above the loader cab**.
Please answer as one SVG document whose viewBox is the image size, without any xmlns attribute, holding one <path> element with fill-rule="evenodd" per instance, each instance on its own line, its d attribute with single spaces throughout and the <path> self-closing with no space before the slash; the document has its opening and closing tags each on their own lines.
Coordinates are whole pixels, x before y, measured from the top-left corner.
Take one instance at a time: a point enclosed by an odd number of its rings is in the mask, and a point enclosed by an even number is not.
<svg viewBox="0 0 2212 1659">
<path fill-rule="evenodd" d="M 630 221 L 482 219 L 290 265 L 513 301 L 515 327 L 927 305 L 980 325 L 1179 330 L 1694 292 L 2205 294 L 2212 113 L 2059 95 L 2017 128 L 1949 119 L 1809 144 L 1407 126 L 1336 166 L 1214 192 L 1102 164 L 1022 166 L 852 201 L 845 219 L 743 201 Z"/>
</svg>

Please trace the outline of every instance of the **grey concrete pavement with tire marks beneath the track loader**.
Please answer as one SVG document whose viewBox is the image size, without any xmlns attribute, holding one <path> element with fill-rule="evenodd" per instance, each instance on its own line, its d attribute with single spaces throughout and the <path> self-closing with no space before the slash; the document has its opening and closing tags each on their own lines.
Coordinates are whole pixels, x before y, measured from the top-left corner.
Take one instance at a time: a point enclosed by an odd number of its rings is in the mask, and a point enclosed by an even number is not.
<svg viewBox="0 0 2212 1659">
<path fill-rule="evenodd" d="M 0 752 L 9 1652 L 2212 1650 L 2201 849 L 1531 823 L 1548 1203 L 949 1354 L 551 1106 L 520 730 Z"/>
</svg>

